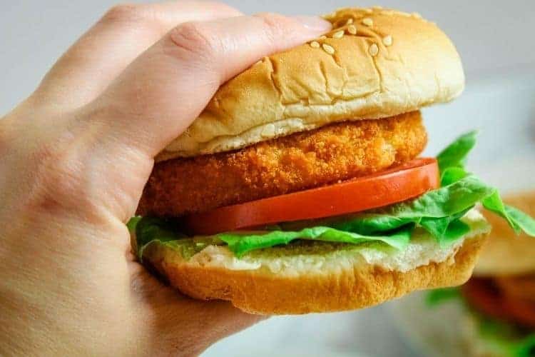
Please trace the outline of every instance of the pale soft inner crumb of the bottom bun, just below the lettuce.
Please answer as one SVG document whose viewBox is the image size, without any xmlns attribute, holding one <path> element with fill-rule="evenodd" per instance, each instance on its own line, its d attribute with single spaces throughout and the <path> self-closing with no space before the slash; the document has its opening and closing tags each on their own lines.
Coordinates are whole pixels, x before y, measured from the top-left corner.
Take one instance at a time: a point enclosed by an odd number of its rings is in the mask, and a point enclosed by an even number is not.
<svg viewBox="0 0 535 357">
<path fill-rule="evenodd" d="M 153 241 L 146 246 L 146 254 L 151 259 L 161 257 L 170 264 L 188 263 L 191 266 L 236 271 L 263 270 L 285 276 L 355 266 L 377 266 L 389 271 L 406 272 L 429 263 L 447 261 L 465 240 L 490 231 L 489 224 L 476 209 L 469 211 L 461 221 L 469 226 L 470 231 L 449 246 L 440 246 L 427 231 L 415 228 L 409 243 L 402 249 L 374 241 L 350 244 L 297 239 L 288 244 L 250 251 L 238 258 L 223 241 L 194 237 Z"/>
</svg>

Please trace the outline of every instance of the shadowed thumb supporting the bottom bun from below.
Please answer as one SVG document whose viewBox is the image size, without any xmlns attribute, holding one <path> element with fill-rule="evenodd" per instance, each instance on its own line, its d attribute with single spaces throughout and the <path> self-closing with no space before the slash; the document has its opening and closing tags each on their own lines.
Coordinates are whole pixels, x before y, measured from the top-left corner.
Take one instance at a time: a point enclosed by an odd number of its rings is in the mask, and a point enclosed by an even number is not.
<svg viewBox="0 0 535 357">
<path fill-rule="evenodd" d="M 151 356 L 154 351 L 175 355 L 175 349 L 180 347 L 181 355 L 198 356 L 221 338 L 268 317 L 245 313 L 227 301 L 193 300 L 164 286 L 137 261 L 131 261 L 131 267 L 135 276 L 133 302 L 141 305 L 131 310 L 137 311 L 135 321 L 143 326 L 140 329 L 144 330 L 141 335 L 146 338 L 142 343 L 148 348 L 143 351 L 146 355 Z M 148 311 L 147 306 L 151 307 Z"/>
</svg>

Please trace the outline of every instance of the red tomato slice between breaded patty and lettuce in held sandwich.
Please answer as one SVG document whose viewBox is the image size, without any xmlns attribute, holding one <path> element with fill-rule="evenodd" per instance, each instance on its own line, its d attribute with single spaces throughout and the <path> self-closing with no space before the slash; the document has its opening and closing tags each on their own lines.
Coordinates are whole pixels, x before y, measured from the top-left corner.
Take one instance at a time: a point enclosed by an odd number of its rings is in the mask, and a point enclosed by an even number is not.
<svg viewBox="0 0 535 357">
<path fill-rule="evenodd" d="M 438 187 L 437 160 L 414 159 L 370 176 L 191 214 L 183 222 L 192 233 L 215 234 L 365 211 L 406 201 Z"/>
</svg>

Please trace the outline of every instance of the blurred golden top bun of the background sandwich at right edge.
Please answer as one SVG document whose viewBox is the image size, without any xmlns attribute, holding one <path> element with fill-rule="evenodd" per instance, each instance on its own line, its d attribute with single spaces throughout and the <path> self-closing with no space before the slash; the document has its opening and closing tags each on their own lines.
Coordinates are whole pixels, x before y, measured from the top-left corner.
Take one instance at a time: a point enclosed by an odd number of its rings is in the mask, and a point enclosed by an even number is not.
<svg viewBox="0 0 535 357">
<path fill-rule="evenodd" d="M 535 215 L 535 191 L 510 196 L 504 201 L 530 216 Z M 507 222 L 493 213 L 485 214 L 492 232 L 481 249 L 474 270 L 476 276 L 514 276 L 535 273 L 535 238 L 515 236 Z"/>
</svg>

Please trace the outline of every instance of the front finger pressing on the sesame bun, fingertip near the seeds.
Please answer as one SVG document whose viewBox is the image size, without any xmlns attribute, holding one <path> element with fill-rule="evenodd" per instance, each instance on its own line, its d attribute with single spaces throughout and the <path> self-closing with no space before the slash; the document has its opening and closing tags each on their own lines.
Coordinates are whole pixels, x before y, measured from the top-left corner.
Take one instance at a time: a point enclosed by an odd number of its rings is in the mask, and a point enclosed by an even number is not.
<svg viewBox="0 0 535 357">
<path fill-rule="evenodd" d="M 277 14 L 180 25 L 128 66 L 89 110 L 113 113 L 109 135 L 155 156 L 225 81 L 263 56 L 329 29 L 320 18 Z"/>
</svg>

